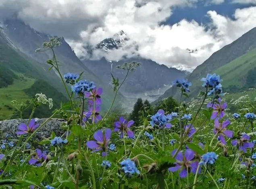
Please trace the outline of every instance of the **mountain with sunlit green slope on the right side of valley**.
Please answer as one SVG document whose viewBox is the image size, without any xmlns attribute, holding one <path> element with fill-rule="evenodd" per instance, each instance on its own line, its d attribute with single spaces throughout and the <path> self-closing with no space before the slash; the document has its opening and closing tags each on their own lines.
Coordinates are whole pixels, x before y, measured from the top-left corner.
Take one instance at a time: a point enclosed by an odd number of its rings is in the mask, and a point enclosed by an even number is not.
<svg viewBox="0 0 256 189">
<path fill-rule="evenodd" d="M 216 73 L 223 79 L 223 91 L 237 93 L 256 87 L 256 28 L 251 29 L 231 44 L 214 52 L 210 58 L 187 77 L 192 83 L 190 97 L 202 90 L 200 79 L 207 73 Z M 178 98 L 177 87 L 168 89 L 158 100 L 173 96 Z"/>
</svg>

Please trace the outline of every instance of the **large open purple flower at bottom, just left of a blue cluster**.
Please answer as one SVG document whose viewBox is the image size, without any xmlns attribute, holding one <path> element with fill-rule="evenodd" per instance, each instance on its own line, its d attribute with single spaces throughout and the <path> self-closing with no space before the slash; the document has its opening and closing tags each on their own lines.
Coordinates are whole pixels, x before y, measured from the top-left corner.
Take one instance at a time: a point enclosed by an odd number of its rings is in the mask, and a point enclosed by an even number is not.
<svg viewBox="0 0 256 189">
<path fill-rule="evenodd" d="M 175 149 L 172 152 L 172 156 L 175 154 L 177 149 Z M 195 158 L 195 152 L 193 150 L 187 149 L 185 150 L 185 156 L 183 156 L 183 154 L 181 153 L 181 151 L 178 152 L 177 156 L 175 157 L 175 159 L 177 160 L 177 162 L 175 162 L 174 167 L 170 167 L 168 170 L 175 172 L 177 170 L 180 170 L 179 172 L 179 176 L 181 178 L 187 177 L 187 169 L 189 170 L 189 172 L 193 172 L 194 174 L 196 174 L 196 170 L 198 168 L 199 162 L 198 161 L 192 161 Z M 201 168 L 199 169 L 199 172 L 201 172 Z"/>
</svg>

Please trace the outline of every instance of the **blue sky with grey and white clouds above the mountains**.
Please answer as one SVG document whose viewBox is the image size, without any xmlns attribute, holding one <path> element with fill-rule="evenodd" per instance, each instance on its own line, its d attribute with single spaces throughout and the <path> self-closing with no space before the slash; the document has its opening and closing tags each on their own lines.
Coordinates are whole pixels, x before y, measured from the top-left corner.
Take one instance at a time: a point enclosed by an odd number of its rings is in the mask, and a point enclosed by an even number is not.
<svg viewBox="0 0 256 189">
<path fill-rule="evenodd" d="M 37 31 L 65 37 L 79 57 L 84 46 L 123 30 L 129 48 L 94 58 L 120 60 L 135 52 L 192 68 L 256 27 L 256 0 L 0 0 L 0 20 L 14 13 Z"/>
</svg>

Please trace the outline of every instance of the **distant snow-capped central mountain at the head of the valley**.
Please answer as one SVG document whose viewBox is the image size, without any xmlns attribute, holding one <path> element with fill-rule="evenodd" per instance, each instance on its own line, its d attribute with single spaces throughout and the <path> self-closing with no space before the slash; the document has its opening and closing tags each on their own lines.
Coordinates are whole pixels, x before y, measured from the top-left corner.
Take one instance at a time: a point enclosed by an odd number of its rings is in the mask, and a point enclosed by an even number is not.
<svg viewBox="0 0 256 189">
<path fill-rule="evenodd" d="M 81 59 L 87 68 L 104 81 L 110 81 L 110 71 L 112 71 L 113 75 L 118 77 L 119 80 L 122 80 L 125 77 L 126 71 L 117 69 L 117 65 L 125 62 L 140 62 L 141 65 L 137 67 L 136 71 L 133 71 L 128 75 L 123 87 L 121 88 L 121 93 L 127 97 L 137 96 L 137 94 L 140 93 L 145 94 L 149 93 L 149 91 L 158 91 L 159 89 L 170 87 L 171 82 L 177 77 L 185 76 L 185 72 L 183 71 L 175 68 L 168 68 L 164 64 L 158 64 L 140 56 L 136 56 L 137 58 L 123 57 L 119 61 L 108 60 L 105 57 L 100 60 L 92 60 L 91 58 L 94 50 L 101 51 L 102 54 L 107 54 L 112 50 L 120 48 L 129 49 L 134 46 L 136 49 L 136 42 L 131 42 L 131 39 L 127 34 L 124 31 L 120 31 L 113 37 L 104 39 L 95 47 L 87 48 L 87 58 L 81 57 Z"/>
</svg>

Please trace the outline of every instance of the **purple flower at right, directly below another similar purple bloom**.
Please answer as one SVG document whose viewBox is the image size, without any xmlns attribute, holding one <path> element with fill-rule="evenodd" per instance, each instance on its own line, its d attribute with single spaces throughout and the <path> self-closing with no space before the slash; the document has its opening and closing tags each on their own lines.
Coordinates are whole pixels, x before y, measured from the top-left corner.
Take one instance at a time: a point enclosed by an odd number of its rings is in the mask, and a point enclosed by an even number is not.
<svg viewBox="0 0 256 189">
<path fill-rule="evenodd" d="M 230 124 L 230 121 L 227 119 L 223 121 L 222 123 L 219 123 L 218 119 L 214 120 L 214 128 L 213 133 L 216 135 L 219 135 L 219 139 L 223 144 L 227 144 L 225 137 L 232 138 L 233 137 L 233 131 L 227 130 L 227 126 Z"/>
</svg>

